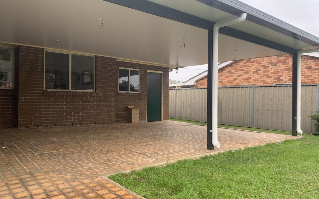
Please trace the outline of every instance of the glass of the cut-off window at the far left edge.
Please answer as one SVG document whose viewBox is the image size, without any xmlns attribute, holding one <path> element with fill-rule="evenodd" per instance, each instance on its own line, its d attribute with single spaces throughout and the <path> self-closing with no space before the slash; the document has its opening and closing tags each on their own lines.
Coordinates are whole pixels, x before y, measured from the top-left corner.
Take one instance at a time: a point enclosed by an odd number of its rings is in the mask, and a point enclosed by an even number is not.
<svg viewBox="0 0 319 199">
<path fill-rule="evenodd" d="M 13 88 L 13 49 L 0 48 L 0 88 Z"/>
</svg>

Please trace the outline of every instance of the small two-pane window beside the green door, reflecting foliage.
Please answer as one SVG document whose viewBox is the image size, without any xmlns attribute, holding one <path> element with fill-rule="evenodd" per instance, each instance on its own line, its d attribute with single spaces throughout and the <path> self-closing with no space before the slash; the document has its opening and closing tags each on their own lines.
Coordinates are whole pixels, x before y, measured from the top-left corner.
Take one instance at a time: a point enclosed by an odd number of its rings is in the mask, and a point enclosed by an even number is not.
<svg viewBox="0 0 319 199">
<path fill-rule="evenodd" d="M 119 91 L 139 92 L 139 70 L 119 69 Z"/>
</svg>

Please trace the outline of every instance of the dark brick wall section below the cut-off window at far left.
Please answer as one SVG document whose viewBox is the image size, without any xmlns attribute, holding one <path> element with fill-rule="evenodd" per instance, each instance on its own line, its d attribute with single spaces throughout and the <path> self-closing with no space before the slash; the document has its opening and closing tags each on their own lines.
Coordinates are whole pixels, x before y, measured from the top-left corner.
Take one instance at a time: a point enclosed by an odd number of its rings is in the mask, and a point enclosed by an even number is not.
<svg viewBox="0 0 319 199">
<path fill-rule="evenodd" d="M 0 89 L 0 127 L 15 125 L 15 91 Z"/>
</svg>

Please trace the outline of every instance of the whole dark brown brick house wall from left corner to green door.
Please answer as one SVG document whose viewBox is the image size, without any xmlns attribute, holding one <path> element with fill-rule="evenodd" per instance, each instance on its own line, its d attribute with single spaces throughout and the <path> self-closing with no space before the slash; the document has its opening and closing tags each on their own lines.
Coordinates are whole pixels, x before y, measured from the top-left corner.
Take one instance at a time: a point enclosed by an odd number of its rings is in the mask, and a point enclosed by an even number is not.
<svg viewBox="0 0 319 199">
<path fill-rule="evenodd" d="M 141 92 L 118 92 L 118 67 L 140 69 Z M 44 49 L 19 46 L 18 127 L 127 122 L 127 105 L 146 120 L 146 71 L 164 71 L 163 119 L 168 119 L 168 68 L 96 56 L 96 92 L 43 91 Z"/>
</svg>

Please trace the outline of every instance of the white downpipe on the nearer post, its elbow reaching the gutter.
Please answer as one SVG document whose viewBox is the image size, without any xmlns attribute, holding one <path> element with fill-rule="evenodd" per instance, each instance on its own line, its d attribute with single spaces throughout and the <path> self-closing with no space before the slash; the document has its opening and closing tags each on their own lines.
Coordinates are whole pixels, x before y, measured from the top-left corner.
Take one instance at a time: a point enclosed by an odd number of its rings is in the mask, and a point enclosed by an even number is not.
<svg viewBox="0 0 319 199">
<path fill-rule="evenodd" d="M 218 33 L 219 28 L 238 24 L 243 22 L 247 17 L 246 13 L 241 13 L 240 17 L 220 21 L 213 27 L 213 60 L 212 60 L 212 111 L 211 111 L 211 124 L 212 124 L 212 143 L 213 146 L 219 148 L 218 131 L 217 131 L 217 117 L 218 117 Z"/>
</svg>

